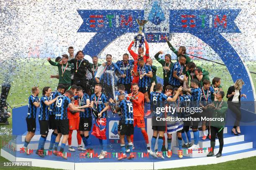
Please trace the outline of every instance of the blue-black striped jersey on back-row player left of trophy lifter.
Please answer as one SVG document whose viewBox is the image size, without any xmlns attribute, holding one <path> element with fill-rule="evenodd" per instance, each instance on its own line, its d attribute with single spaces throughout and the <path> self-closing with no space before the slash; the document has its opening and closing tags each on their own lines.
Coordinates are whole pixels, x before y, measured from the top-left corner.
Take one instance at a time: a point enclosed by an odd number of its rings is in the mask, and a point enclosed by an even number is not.
<svg viewBox="0 0 256 170">
<path fill-rule="evenodd" d="M 133 64 L 134 64 L 134 60 L 128 60 L 128 63 L 127 64 L 124 64 L 123 63 L 123 60 L 121 61 L 118 61 L 115 63 L 121 71 L 123 71 L 123 73 L 125 74 L 125 77 L 120 77 L 118 79 L 118 83 L 121 83 L 123 85 L 125 84 L 129 84 L 132 82 L 132 79 L 131 79 L 131 69 L 133 69 Z"/>
</svg>

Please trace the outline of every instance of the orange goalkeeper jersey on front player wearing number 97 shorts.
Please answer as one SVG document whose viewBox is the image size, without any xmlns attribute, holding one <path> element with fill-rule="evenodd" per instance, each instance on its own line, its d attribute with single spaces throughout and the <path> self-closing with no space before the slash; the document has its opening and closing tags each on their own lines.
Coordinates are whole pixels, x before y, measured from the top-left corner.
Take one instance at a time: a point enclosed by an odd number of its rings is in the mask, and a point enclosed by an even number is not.
<svg viewBox="0 0 256 170">
<path fill-rule="evenodd" d="M 144 117 L 144 94 L 142 92 L 138 92 L 135 95 L 130 93 L 128 100 L 131 96 L 134 97 L 134 100 L 131 101 L 133 103 L 133 116 Z"/>
</svg>

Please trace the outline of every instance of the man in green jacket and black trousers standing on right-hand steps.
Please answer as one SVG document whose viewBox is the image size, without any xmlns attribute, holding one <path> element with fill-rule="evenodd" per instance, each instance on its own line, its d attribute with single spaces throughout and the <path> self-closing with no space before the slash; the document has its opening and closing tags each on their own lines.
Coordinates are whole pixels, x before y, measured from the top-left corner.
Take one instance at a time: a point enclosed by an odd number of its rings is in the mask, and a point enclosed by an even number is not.
<svg viewBox="0 0 256 170">
<path fill-rule="evenodd" d="M 212 151 L 207 154 L 207 156 L 213 156 L 214 155 L 214 147 L 215 147 L 215 138 L 216 134 L 218 134 L 218 139 L 220 143 L 219 152 L 217 153 L 216 157 L 219 158 L 222 156 L 222 149 L 224 145 L 223 141 L 223 131 L 225 128 L 225 117 L 228 110 L 228 105 L 226 102 L 223 101 L 223 97 L 225 96 L 225 93 L 223 91 L 218 91 L 216 94 L 216 101 L 211 103 L 209 107 L 213 109 L 214 113 L 212 115 L 213 118 L 223 118 L 224 121 L 211 121 L 211 149 Z"/>
</svg>

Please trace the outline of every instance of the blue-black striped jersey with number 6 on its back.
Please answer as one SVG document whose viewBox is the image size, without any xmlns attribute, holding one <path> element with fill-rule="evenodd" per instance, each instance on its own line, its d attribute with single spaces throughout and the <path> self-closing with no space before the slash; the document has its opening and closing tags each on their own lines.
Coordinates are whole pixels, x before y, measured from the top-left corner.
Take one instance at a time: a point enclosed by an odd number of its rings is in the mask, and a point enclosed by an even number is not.
<svg viewBox="0 0 256 170">
<path fill-rule="evenodd" d="M 155 117 L 164 117 L 165 113 L 160 112 L 160 114 L 156 113 L 157 107 L 165 107 L 165 101 L 167 100 L 167 95 L 161 92 L 151 92 L 150 93 L 150 101 L 152 109 L 154 110 L 153 116 Z"/>
</svg>

